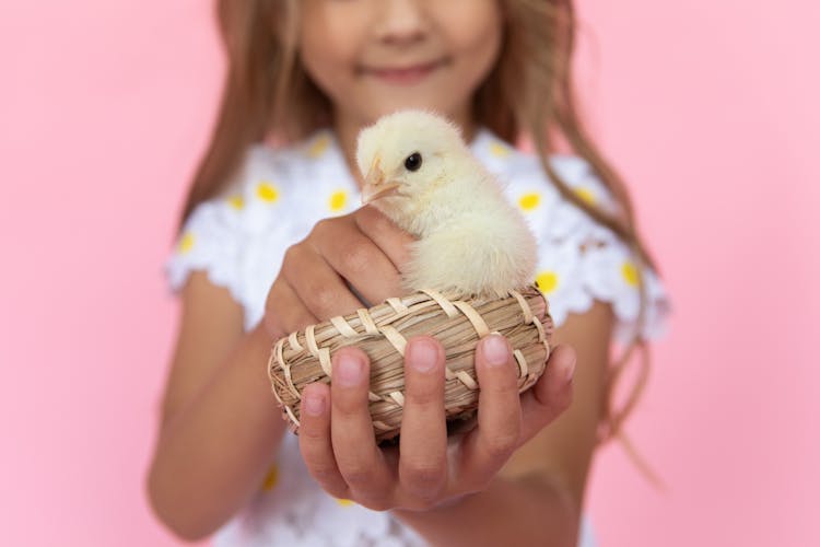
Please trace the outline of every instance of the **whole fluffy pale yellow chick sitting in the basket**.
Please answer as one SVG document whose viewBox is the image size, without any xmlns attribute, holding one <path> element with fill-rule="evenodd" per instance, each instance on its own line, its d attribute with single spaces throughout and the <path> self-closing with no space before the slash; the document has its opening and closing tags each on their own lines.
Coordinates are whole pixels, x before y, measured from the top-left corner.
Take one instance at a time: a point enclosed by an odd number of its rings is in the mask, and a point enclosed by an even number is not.
<svg viewBox="0 0 820 547">
<path fill-rule="evenodd" d="M 502 298 L 530 284 L 536 240 L 460 130 L 421 110 L 385 116 L 359 135 L 362 202 L 415 235 L 408 292 Z"/>
</svg>

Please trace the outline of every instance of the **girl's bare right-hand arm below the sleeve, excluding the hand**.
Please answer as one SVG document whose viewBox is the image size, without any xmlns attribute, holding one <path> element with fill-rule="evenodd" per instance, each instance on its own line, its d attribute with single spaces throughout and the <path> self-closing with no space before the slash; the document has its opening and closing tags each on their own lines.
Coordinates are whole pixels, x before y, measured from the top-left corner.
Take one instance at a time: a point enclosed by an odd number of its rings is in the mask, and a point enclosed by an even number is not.
<svg viewBox="0 0 820 547">
<path fill-rule="evenodd" d="M 612 325 L 610 306 L 596 302 L 557 329 L 554 341 L 577 354 L 572 405 L 519 447 L 487 490 L 446 508 L 394 514 L 434 546 L 575 546 Z"/>
</svg>

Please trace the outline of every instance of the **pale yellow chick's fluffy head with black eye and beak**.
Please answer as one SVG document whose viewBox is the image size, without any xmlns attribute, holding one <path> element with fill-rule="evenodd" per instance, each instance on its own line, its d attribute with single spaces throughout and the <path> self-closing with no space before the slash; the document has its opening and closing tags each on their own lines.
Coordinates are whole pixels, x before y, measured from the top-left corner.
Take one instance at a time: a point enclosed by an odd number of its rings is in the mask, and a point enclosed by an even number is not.
<svg viewBox="0 0 820 547">
<path fill-rule="evenodd" d="M 434 114 L 400 110 L 379 118 L 359 133 L 362 202 L 388 214 L 407 209 L 446 184 L 464 149 L 460 130 Z"/>
</svg>

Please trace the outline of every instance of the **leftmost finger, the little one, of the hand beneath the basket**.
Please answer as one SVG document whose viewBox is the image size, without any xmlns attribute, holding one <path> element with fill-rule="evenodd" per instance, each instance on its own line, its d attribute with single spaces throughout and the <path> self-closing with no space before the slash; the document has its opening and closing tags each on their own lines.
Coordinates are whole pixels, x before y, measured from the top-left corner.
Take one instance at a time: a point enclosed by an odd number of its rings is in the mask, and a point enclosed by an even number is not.
<svg viewBox="0 0 820 547">
<path fill-rule="evenodd" d="M 300 404 L 298 447 L 307 470 L 327 492 L 348 498 L 344 481 L 330 441 L 330 388 L 320 383 L 305 386 Z"/>
</svg>

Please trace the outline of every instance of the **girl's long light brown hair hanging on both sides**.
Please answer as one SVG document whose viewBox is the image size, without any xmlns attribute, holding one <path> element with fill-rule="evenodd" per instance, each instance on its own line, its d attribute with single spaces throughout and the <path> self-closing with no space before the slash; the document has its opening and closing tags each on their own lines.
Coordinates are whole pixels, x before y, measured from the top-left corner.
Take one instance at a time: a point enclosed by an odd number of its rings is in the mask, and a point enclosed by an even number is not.
<svg viewBox="0 0 820 547">
<path fill-rule="evenodd" d="M 639 263 L 643 324 L 646 291 L 640 272 L 652 266 L 635 229 L 625 185 L 604 159 L 582 124 L 572 83 L 575 14 L 572 0 L 502 0 L 503 45 L 499 62 L 477 90 L 475 119 L 508 142 L 528 136 L 543 170 L 565 199 L 616 232 Z M 227 73 L 216 126 L 188 193 L 183 219 L 197 203 L 216 195 L 237 170 L 245 150 L 271 135 L 292 142 L 325 127 L 331 104 L 307 77 L 298 59 L 298 0 L 219 0 L 218 19 L 227 51 Z M 581 199 L 547 158 L 562 139 L 584 158 L 620 205 L 610 216 Z M 648 372 L 647 347 L 637 328 L 610 368 L 601 440 L 620 435 Z M 616 381 L 634 351 L 641 368 L 630 395 L 613 408 Z M 622 438 L 623 439 L 623 438 Z M 625 439 L 624 439 L 625 441 Z M 629 447 L 629 445 L 628 445 Z"/>
</svg>

